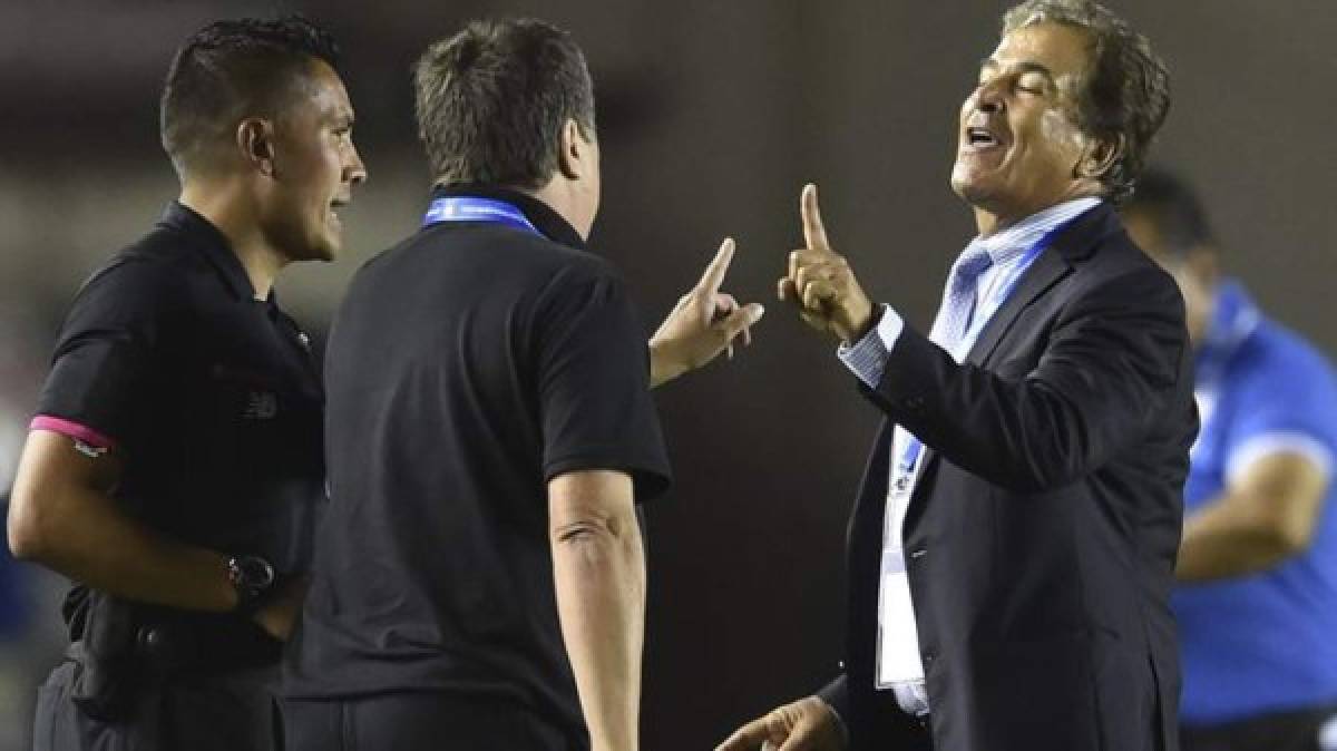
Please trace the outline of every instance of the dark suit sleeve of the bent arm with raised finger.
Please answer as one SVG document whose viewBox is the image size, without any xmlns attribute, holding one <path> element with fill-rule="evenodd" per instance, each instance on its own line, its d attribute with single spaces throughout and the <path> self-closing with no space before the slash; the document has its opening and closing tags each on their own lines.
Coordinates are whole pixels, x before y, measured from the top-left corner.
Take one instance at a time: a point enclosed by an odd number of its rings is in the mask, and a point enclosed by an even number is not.
<svg viewBox="0 0 1337 751">
<path fill-rule="evenodd" d="M 1179 290 L 1146 266 L 1068 303 L 1024 377 L 959 365 L 906 326 L 866 393 L 952 464 L 1016 492 L 1044 492 L 1147 432 L 1179 386 L 1186 346 Z"/>
</svg>

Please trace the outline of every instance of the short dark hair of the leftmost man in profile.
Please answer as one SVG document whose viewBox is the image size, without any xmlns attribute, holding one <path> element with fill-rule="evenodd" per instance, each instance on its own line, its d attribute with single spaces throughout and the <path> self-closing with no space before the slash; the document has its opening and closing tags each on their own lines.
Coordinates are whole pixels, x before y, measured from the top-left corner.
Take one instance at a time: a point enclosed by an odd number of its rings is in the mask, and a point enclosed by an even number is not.
<svg viewBox="0 0 1337 751">
<path fill-rule="evenodd" d="M 206 163 L 242 118 L 277 116 L 313 60 L 337 69 L 338 44 L 302 16 L 222 20 L 193 33 L 172 57 L 159 110 L 178 174 Z"/>
</svg>

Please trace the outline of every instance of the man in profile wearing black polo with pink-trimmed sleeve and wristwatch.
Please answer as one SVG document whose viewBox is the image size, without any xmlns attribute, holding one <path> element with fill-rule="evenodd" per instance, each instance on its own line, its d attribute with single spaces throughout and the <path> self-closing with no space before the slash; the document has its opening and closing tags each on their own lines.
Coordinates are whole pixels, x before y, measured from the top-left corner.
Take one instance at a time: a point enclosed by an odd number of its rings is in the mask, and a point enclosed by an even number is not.
<svg viewBox="0 0 1337 751">
<path fill-rule="evenodd" d="M 219 21 L 172 61 L 180 198 L 80 290 L 15 482 L 15 553 L 76 583 L 36 748 L 275 744 L 324 396 L 271 285 L 333 258 L 365 178 L 334 61 L 301 19 Z"/>
</svg>

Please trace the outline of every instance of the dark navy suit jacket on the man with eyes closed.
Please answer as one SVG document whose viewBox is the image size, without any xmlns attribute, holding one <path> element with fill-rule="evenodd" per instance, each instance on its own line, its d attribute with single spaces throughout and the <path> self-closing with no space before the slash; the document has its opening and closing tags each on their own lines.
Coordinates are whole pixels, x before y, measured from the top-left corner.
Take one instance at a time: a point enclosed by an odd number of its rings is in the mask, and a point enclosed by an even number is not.
<svg viewBox="0 0 1337 751">
<path fill-rule="evenodd" d="M 1055 237 L 964 363 L 906 327 L 848 540 L 854 748 L 913 748 L 874 691 L 892 428 L 927 445 L 904 548 L 937 751 L 1175 751 L 1169 592 L 1198 418 L 1183 301 L 1107 204 Z"/>
</svg>

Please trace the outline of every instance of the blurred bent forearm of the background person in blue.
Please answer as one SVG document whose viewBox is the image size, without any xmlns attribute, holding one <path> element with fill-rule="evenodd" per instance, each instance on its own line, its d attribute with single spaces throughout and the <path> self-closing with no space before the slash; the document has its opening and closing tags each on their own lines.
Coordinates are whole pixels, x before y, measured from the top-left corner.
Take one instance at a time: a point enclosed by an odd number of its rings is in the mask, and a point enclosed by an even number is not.
<svg viewBox="0 0 1337 751">
<path fill-rule="evenodd" d="M 1249 576 L 1297 552 L 1292 540 L 1246 508 L 1217 501 L 1185 521 L 1175 576 L 1185 583 Z"/>
</svg>

